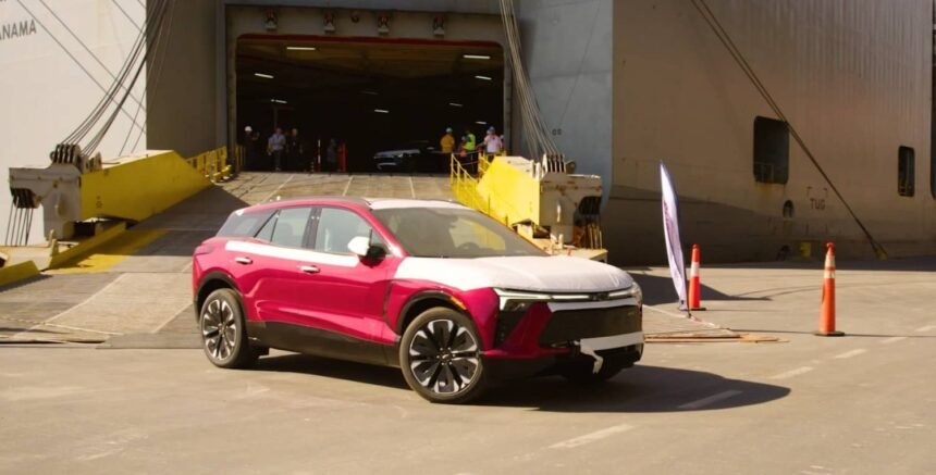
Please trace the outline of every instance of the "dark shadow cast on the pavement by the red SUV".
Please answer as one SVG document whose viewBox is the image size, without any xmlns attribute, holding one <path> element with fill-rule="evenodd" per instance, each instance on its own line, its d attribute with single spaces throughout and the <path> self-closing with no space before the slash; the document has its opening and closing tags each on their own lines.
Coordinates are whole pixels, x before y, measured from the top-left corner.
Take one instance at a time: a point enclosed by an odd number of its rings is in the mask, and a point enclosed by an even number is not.
<svg viewBox="0 0 936 475">
<path fill-rule="evenodd" d="M 261 358 L 254 371 L 300 373 L 409 391 L 398 368 L 305 354 Z M 557 376 L 498 382 L 473 404 L 550 412 L 691 412 L 763 404 L 789 393 L 786 387 L 713 373 L 637 365 L 603 384 L 572 384 Z M 697 402 L 712 397 L 716 400 L 709 404 Z"/>
</svg>

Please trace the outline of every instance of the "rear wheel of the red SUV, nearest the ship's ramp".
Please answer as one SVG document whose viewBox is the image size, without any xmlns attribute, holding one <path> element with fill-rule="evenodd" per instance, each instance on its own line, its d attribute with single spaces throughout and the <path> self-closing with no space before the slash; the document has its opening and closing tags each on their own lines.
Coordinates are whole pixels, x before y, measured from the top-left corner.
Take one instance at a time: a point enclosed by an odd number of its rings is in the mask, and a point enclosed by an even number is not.
<svg viewBox="0 0 936 475">
<path fill-rule="evenodd" d="M 260 355 L 247 341 L 241 297 L 232 289 L 214 290 L 205 299 L 198 329 L 201 332 L 201 348 L 215 366 L 249 367 Z"/>
</svg>

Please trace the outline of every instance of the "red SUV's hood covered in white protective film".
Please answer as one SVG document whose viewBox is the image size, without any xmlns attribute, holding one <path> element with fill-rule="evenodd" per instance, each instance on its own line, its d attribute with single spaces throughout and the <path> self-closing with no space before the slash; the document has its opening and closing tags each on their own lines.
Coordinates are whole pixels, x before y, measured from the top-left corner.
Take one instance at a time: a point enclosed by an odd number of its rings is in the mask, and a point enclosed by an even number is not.
<svg viewBox="0 0 936 475">
<path fill-rule="evenodd" d="M 569 257 L 406 258 L 395 277 L 431 280 L 463 291 L 490 287 L 546 292 L 603 292 L 633 284 L 630 275 L 617 267 Z"/>
</svg>

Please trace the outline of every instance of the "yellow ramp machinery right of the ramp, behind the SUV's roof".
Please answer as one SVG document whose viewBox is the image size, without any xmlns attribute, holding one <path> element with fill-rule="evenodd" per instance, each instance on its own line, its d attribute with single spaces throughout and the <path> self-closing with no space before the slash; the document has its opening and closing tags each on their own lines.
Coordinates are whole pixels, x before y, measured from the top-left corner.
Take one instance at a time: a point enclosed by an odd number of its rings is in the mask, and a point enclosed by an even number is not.
<svg viewBox="0 0 936 475">
<path fill-rule="evenodd" d="M 605 261 L 599 210 L 601 177 L 567 173 L 562 159 L 481 155 L 478 173 L 453 155 L 452 191 L 554 254 Z"/>
</svg>

